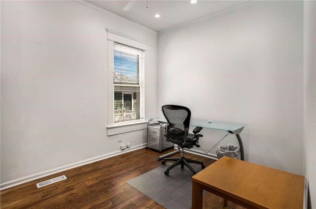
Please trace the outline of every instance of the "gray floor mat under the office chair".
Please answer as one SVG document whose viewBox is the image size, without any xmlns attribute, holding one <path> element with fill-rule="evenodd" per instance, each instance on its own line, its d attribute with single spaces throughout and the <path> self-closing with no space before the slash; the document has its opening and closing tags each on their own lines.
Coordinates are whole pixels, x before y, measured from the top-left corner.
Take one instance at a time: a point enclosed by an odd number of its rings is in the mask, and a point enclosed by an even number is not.
<svg viewBox="0 0 316 209">
<path fill-rule="evenodd" d="M 190 209 L 192 202 L 192 172 L 180 166 L 173 168 L 169 175 L 164 171 L 172 165 L 166 163 L 150 172 L 139 175 L 127 183 L 166 209 Z M 190 164 L 197 172 L 201 166 Z M 204 192 L 205 193 L 205 192 Z"/>
</svg>

